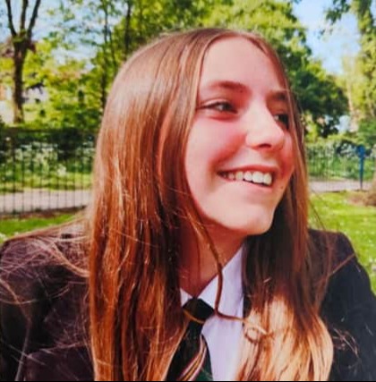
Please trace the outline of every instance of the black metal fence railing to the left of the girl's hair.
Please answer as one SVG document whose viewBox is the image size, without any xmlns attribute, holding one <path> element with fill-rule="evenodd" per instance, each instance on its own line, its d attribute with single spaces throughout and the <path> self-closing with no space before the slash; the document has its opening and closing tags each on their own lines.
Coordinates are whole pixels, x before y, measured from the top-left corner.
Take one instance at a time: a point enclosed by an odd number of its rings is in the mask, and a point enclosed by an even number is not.
<svg viewBox="0 0 376 382">
<path fill-rule="evenodd" d="M 0 131 L 0 216 L 85 206 L 95 138 L 79 129 Z"/>
</svg>

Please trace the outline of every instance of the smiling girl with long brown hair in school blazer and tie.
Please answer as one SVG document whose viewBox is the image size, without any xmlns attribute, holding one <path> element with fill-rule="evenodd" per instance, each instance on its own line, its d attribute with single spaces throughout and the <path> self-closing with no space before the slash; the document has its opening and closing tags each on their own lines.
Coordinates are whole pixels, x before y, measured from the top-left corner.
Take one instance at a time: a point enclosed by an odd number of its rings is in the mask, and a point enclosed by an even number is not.
<svg viewBox="0 0 376 382">
<path fill-rule="evenodd" d="M 278 56 L 174 34 L 119 72 L 81 219 L 1 254 L 5 380 L 373 380 L 376 300 L 308 230 L 303 127 Z"/>
</svg>

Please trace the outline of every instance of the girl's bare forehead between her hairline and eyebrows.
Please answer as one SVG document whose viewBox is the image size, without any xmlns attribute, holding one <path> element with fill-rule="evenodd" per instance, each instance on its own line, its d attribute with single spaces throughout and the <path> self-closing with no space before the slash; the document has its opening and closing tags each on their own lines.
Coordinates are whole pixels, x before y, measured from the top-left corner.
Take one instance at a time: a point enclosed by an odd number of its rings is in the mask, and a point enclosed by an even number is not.
<svg viewBox="0 0 376 382">
<path fill-rule="evenodd" d="M 209 47 L 202 64 L 200 87 L 215 81 L 233 81 L 268 91 L 282 88 L 268 55 L 243 37 L 221 38 Z"/>
</svg>

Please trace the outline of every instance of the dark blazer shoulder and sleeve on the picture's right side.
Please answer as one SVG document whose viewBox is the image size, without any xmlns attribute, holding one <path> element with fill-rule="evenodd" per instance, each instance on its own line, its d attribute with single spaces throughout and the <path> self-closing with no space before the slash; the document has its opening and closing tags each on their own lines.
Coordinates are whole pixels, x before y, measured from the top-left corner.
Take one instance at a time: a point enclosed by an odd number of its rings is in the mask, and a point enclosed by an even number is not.
<svg viewBox="0 0 376 382">
<path fill-rule="evenodd" d="M 335 347 L 330 380 L 376 379 L 376 297 L 370 277 L 343 233 L 312 231 L 316 254 L 332 251 L 320 315 Z"/>
</svg>

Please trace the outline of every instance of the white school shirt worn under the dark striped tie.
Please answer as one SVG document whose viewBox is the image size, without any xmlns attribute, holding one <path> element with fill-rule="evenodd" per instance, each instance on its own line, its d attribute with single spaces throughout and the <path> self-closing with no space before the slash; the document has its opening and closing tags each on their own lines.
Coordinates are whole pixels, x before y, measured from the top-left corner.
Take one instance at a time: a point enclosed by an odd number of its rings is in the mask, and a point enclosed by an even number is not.
<svg viewBox="0 0 376 382">
<path fill-rule="evenodd" d="M 235 253 L 223 268 L 223 288 L 218 310 L 228 316 L 243 318 L 244 292 L 242 283 L 242 258 L 244 246 Z M 205 287 L 198 298 L 213 309 L 218 289 L 218 276 Z M 182 306 L 192 296 L 181 289 Z M 238 366 L 238 352 L 243 333 L 241 321 L 212 316 L 202 327 L 202 335 L 209 347 L 213 380 L 231 381 Z"/>
</svg>

